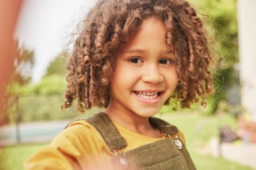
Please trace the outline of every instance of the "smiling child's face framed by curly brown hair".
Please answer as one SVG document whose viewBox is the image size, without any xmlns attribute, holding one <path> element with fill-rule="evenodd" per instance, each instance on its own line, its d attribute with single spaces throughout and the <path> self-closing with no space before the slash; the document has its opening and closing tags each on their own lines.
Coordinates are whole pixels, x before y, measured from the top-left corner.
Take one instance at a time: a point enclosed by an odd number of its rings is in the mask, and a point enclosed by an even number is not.
<svg viewBox="0 0 256 170">
<path fill-rule="evenodd" d="M 178 81 L 164 24 L 152 17 L 144 20 L 128 42 L 119 46 L 115 57 L 109 106 L 143 117 L 156 114 Z"/>
</svg>

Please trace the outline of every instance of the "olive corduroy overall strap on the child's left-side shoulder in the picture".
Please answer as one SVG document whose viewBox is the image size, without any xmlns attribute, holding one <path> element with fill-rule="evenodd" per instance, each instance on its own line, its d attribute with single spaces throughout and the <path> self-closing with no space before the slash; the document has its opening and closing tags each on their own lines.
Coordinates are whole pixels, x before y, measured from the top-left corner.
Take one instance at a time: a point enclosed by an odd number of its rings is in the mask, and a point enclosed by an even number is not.
<svg viewBox="0 0 256 170">
<path fill-rule="evenodd" d="M 121 136 L 113 122 L 104 112 L 94 114 L 94 116 L 86 119 L 86 121 L 96 128 L 102 138 L 104 138 L 110 151 L 118 151 L 127 146 L 125 138 Z"/>
</svg>

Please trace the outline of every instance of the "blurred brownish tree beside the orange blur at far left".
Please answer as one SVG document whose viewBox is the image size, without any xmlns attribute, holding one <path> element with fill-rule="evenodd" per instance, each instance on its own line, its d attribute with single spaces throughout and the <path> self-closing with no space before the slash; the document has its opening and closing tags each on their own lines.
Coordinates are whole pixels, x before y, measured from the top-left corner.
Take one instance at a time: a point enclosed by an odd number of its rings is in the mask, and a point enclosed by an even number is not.
<svg viewBox="0 0 256 170">
<path fill-rule="evenodd" d="M 18 40 L 14 40 L 13 46 L 15 72 L 11 76 L 11 81 L 5 91 L 5 103 L 3 103 L 3 114 L 1 114 L 0 125 L 10 122 L 10 118 L 15 118 L 17 126 L 22 118 L 19 110 L 20 87 L 29 83 L 34 65 L 34 51 L 28 50 L 24 45 L 20 46 Z M 11 114 L 11 115 L 10 115 Z"/>
</svg>

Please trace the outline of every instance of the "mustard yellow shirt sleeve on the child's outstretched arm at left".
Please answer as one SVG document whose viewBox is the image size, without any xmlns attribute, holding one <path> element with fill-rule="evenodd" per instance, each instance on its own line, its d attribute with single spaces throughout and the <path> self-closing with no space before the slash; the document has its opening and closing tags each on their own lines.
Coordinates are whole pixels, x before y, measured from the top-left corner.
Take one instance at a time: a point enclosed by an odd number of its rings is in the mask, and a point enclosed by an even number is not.
<svg viewBox="0 0 256 170">
<path fill-rule="evenodd" d="M 86 121 L 77 121 L 59 133 L 46 148 L 24 163 L 24 169 L 88 169 L 100 166 L 102 138 Z"/>
</svg>

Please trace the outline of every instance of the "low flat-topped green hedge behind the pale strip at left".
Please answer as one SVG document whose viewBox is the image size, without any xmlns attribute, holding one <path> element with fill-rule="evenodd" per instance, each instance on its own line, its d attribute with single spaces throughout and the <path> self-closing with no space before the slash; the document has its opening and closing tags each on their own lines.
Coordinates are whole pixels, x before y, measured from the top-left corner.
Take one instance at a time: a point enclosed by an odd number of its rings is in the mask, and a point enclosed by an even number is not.
<svg viewBox="0 0 256 170">
<path fill-rule="evenodd" d="M 22 122 L 79 119 L 86 118 L 92 113 L 100 112 L 98 108 L 94 108 L 86 112 L 86 114 L 80 114 L 76 111 L 75 103 L 74 107 L 68 110 L 61 110 L 61 104 L 63 104 L 62 94 L 26 95 L 20 97 L 19 104 L 20 112 L 22 112 Z M 13 118 L 13 114 L 10 115 Z"/>
</svg>

